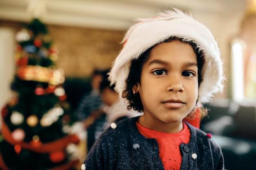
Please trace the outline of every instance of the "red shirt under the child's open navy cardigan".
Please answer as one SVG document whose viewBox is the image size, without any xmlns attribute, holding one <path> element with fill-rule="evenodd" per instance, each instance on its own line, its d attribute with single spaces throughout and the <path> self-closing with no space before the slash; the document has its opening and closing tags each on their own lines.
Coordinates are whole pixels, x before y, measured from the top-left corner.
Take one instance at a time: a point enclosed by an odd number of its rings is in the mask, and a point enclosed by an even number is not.
<svg viewBox="0 0 256 170">
<path fill-rule="evenodd" d="M 146 138 L 155 138 L 159 145 L 159 157 L 164 170 L 180 170 L 182 157 L 180 144 L 188 144 L 190 140 L 189 127 L 183 122 L 183 130 L 177 133 L 166 133 L 148 129 L 136 122 L 139 132 Z"/>
</svg>

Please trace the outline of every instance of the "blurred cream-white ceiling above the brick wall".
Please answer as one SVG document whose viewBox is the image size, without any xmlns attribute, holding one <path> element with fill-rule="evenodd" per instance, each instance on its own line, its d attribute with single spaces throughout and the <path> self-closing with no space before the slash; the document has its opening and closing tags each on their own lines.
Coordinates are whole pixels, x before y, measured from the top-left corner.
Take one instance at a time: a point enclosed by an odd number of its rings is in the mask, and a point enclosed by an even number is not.
<svg viewBox="0 0 256 170">
<path fill-rule="evenodd" d="M 135 18 L 153 17 L 177 7 L 191 13 L 230 15 L 246 0 L 0 0 L 0 19 L 124 30 Z"/>
</svg>

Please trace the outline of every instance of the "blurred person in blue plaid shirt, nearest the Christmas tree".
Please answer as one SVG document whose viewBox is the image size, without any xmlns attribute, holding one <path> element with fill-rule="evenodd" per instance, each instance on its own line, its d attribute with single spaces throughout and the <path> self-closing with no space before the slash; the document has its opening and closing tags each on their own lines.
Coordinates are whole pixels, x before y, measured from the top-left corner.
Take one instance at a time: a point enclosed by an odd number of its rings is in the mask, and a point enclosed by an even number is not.
<svg viewBox="0 0 256 170">
<path fill-rule="evenodd" d="M 91 91 L 85 93 L 78 103 L 76 115 L 79 121 L 82 121 L 87 131 L 87 151 L 90 150 L 94 141 L 99 137 L 104 129 L 106 115 L 104 109 L 107 107 L 99 94 L 99 86 L 103 76 L 109 72 L 106 70 L 96 69 L 90 77 Z"/>
</svg>

